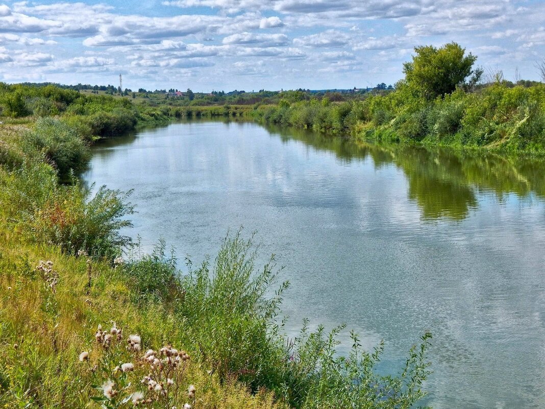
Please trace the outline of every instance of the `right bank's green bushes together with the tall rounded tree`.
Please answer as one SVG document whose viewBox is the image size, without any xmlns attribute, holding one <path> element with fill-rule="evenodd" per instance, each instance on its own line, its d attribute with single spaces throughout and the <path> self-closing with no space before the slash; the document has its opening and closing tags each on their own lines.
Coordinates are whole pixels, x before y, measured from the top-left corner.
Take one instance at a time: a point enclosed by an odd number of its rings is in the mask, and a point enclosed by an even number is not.
<svg viewBox="0 0 545 409">
<path fill-rule="evenodd" d="M 482 83 L 482 69 L 473 67 L 476 57 L 457 44 L 415 51 L 395 91 L 350 103 L 282 100 L 254 115 L 268 123 L 368 140 L 545 152 L 543 83 L 512 83 L 501 73 Z"/>
</svg>

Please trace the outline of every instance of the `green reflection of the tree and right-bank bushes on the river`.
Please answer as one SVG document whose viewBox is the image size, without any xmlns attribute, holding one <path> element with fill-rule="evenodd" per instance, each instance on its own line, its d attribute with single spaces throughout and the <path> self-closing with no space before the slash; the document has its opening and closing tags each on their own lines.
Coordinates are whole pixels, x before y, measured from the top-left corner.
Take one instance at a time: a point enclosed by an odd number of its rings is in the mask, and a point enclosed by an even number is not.
<svg viewBox="0 0 545 409">
<path fill-rule="evenodd" d="M 463 220 L 479 203 L 477 194 L 545 197 L 545 160 L 425 146 L 356 142 L 300 129 L 268 126 L 284 142 L 298 140 L 347 161 L 371 158 L 374 166 L 395 165 L 408 179 L 408 197 L 423 219 Z"/>
</svg>

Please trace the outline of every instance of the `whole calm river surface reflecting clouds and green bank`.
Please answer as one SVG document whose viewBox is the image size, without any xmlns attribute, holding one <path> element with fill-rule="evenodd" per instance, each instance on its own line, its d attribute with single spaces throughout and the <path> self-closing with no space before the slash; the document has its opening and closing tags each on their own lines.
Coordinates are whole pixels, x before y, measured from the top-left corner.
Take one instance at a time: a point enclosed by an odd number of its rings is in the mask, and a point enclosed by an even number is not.
<svg viewBox="0 0 545 409">
<path fill-rule="evenodd" d="M 435 408 L 545 407 L 545 165 L 190 122 L 96 147 L 86 181 L 134 188 L 131 236 L 180 258 L 258 231 L 292 285 L 283 311 L 346 322 L 385 370 L 433 332 Z"/>
</svg>

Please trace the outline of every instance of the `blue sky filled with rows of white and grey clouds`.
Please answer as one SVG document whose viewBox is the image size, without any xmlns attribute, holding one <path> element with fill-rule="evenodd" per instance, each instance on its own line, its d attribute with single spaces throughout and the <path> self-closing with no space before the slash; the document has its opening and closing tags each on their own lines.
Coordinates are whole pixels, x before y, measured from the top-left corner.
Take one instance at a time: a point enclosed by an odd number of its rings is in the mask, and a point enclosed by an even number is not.
<svg viewBox="0 0 545 409">
<path fill-rule="evenodd" d="M 1 0 L 0 0 L 1 1 Z M 393 84 L 419 45 L 456 41 L 486 73 L 538 80 L 540 0 L 0 3 L 0 81 L 197 92 Z"/>
</svg>

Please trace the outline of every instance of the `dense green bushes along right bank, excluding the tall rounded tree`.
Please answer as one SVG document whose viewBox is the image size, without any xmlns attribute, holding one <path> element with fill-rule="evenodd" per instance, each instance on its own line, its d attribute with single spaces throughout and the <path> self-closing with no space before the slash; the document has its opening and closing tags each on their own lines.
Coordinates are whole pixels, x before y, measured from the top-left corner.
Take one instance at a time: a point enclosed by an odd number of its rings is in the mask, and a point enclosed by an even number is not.
<svg viewBox="0 0 545 409">
<path fill-rule="evenodd" d="M 364 101 L 282 101 L 259 109 L 264 123 L 307 128 L 355 139 L 510 154 L 545 154 L 545 85 L 494 83 L 474 92 L 458 89 L 433 100 L 405 88 Z"/>
</svg>

